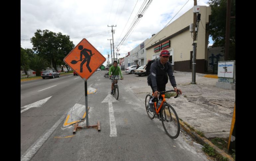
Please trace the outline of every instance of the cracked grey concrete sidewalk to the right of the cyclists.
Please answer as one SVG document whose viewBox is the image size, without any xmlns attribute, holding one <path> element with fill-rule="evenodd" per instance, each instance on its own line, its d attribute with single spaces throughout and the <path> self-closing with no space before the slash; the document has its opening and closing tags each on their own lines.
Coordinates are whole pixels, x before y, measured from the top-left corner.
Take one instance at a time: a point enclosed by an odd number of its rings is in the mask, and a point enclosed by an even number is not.
<svg viewBox="0 0 256 161">
<path fill-rule="evenodd" d="M 125 74 L 124 78 L 125 78 Z M 174 72 L 177 87 L 183 92 L 181 97 L 170 98 L 168 103 L 173 105 L 179 118 L 181 126 L 201 144 L 207 143 L 217 153 L 233 160 L 224 151 L 211 144 L 208 138 L 229 138 L 231 121 L 235 105 L 235 90 L 216 87 L 218 79 L 204 77 L 205 74 L 196 73 L 196 84 L 190 84 L 192 73 Z M 140 99 L 145 100 L 145 93 L 152 92 L 148 86 L 147 77 L 135 76 L 136 86 L 130 88 Z M 170 82 L 166 85 L 167 90 L 172 90 Z M 187 124 L 187 125 L 186 125 Z M 190 127 L 189 127 L 190 126 Z M 204 137 L 196 134 L 200 131 Z"/>
</svg>

